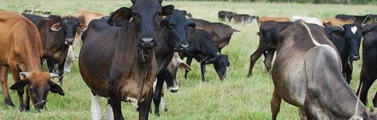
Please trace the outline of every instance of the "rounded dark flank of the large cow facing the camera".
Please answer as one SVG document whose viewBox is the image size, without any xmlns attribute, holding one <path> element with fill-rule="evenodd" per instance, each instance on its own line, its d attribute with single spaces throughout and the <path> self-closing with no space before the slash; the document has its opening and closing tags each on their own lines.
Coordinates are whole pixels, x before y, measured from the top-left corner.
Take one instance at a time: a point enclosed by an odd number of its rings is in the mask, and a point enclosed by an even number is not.
<svg viewBox="0 0 377 120">
<path fill-rule="evenodd" d="M 108 96 L 107 79 L 117 46 L 117 31 L 120 28 L 109 26 L 103 19 L 93 20 L 82 36 L 84 42 L 79 57 L 81 76 L 85 82 L 94 82 L 87 85 L 100 96 Z"/>
</svg>

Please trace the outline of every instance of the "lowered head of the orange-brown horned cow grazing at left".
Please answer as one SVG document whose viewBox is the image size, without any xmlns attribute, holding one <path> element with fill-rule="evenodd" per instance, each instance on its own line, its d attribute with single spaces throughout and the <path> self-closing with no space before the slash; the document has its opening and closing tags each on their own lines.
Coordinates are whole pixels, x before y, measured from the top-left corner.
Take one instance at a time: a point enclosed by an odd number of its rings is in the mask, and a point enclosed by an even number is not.
<svg viewBox="0 0 377 120">
<path fill-rule="evenodd" d="M 30 97 L 33 106 L 38 112 L 43 112 L 47 102 L 49 91 L 64 96 L 63 89 L 51 81 L 51 78 L 59 75 L 49 72 L 20 72 L 25 79 L 17 81 L 10 87 L 11 90 L 24 90 L 27 87 L 27 94 Z"/>
</svg>

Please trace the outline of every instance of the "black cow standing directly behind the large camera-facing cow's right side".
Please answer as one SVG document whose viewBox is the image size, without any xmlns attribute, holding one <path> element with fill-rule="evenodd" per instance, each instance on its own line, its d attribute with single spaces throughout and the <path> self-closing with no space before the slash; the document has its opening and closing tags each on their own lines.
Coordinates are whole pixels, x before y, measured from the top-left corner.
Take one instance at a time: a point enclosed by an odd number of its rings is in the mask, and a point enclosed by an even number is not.
<svg viewBox="0 0 377 120">
<path fill-rule="evenodd" d="M 157 84 L 153 96 L 153 102 L 156 106 L 155 114 L 157 116 L 160 116 L 159 105 L 163 82 L 170 83 L 168 84 L 169 87 L 174 86 L 172 85 L 172 79 L 166 79 L 166 75 L 168 74 L 166 67 L 171 62 L 175 50 L 188 50 L 187 29 L 188 27 L 195 27 L 194 23 L 188 22 L 185 17 L 186 14 L 186 11 L 175 9 L 172 15 L 165 17 L 161 21 L 162 29 L 158 33 L 159 37 L 157 40 L 159 46 L 154 48 L 155 52 L 158 53 L 156 54 L 158 66 Z M 178 91 L 178 88 L 168 88 L 168 90 L 175 93 Z"/>
</svg>

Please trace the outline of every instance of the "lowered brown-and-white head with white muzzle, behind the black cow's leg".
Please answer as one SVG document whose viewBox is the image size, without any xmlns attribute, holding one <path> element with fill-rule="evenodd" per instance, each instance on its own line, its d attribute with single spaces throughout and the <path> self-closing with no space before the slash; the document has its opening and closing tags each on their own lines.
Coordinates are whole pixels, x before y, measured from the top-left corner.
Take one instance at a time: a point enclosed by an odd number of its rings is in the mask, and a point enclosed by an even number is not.
<svg viewBox="0 0 377 120">
<path fill-rule="evenodd" d="M 167 69 L 164 70 L 165 74 L 165 82 L 167 85 L 167 90 L 169 92 L 175 93 L 178 91 L 178 84 L 176 80 L 177 70 L 186 70 L 191 71 L 191 67 L 188 66 L 183 60 L 180 59 L 178 53 L 174 53 L 173 59 L 171 60 L 170 64 L 167 66 Z"/>
</svg>

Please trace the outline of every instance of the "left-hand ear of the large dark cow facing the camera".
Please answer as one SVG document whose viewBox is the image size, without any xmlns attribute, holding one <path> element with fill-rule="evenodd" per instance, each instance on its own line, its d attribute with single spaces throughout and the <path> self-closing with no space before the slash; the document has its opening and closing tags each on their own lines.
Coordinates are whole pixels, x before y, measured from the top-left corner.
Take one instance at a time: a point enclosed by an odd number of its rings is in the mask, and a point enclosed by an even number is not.
<svg viewBox="0 0 377 120">
<path fill-rule="evenodd" d="M 121 7 L 113 12 L 108 19 L 108 24 L 111 26 L 124 26 L 130 22 L 132 18 L 132 9 L 128 7 Z"/>
</svg>

